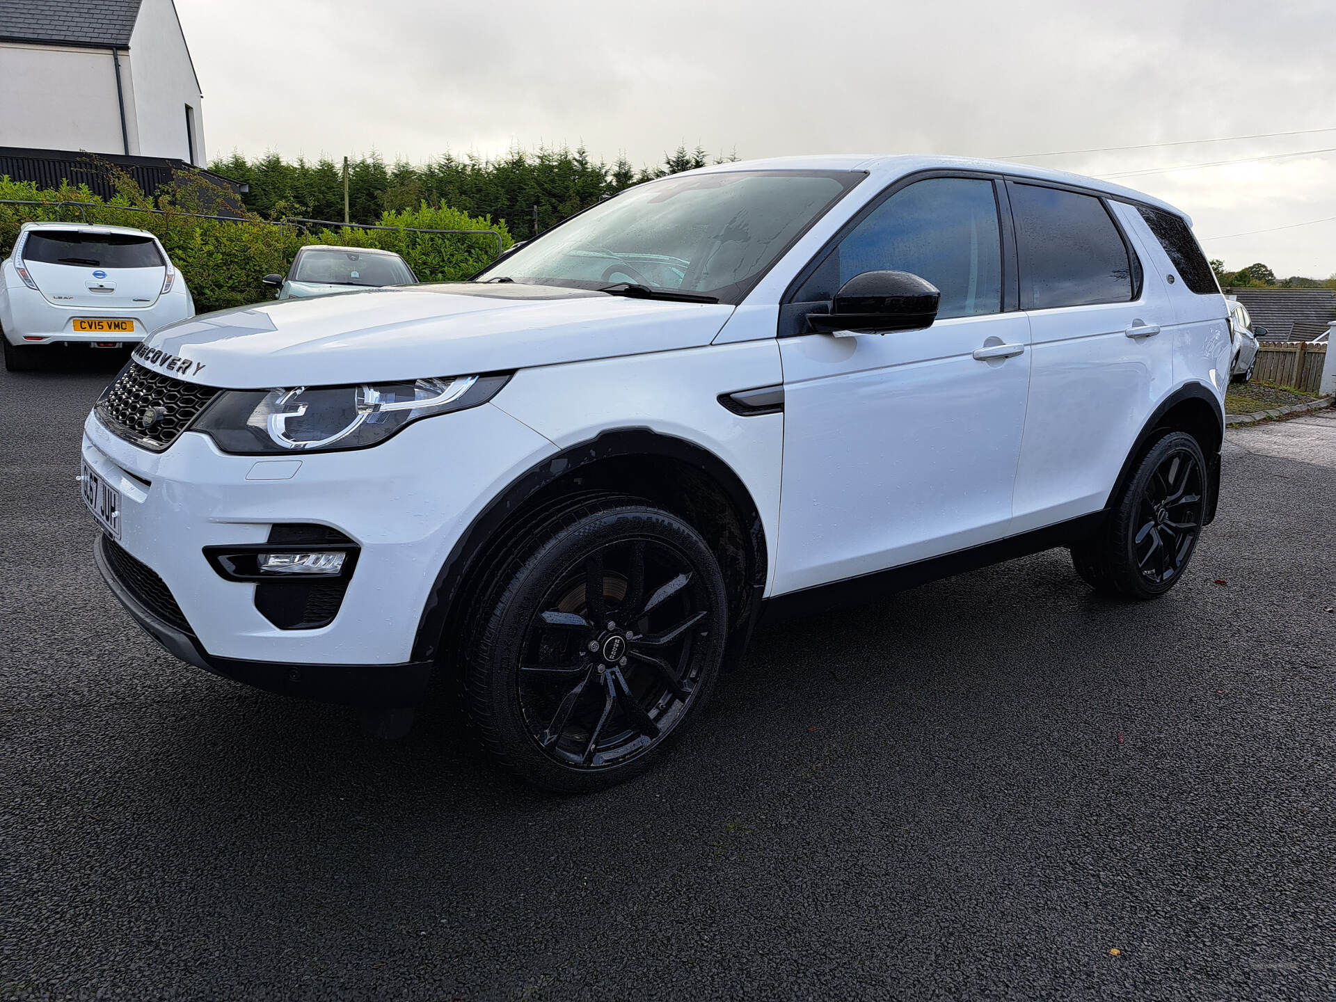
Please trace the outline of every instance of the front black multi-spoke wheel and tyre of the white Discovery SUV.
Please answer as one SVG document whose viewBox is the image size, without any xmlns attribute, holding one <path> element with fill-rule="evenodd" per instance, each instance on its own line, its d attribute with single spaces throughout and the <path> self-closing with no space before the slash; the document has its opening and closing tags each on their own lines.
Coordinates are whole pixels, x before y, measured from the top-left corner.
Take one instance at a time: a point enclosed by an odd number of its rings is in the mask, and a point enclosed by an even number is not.
<svg viewBox="0 0 1336 1002">
<path fill-rule="evenodd" d="M 468 616 L 465 705 L 525 780 L 603 790 L 700 716 L 724 653 L 724 578 L 700 533 L 636 498 L 587 496 L 530 526 Z"/>
</svg>

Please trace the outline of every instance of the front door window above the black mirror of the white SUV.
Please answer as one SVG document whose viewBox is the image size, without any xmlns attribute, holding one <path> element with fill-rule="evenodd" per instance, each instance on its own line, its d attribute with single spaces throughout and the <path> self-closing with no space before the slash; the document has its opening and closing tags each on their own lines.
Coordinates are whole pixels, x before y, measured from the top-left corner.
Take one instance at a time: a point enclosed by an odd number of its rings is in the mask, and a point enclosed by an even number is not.
<svg viewBox="0 0 1336 1002">
<path fill-rule="evenodd" d="M 993 182 L 930 178 L 896 191 L 839 242 L 795 301 L 819 302 L 864 271 L 908 271 L 942 293 L 939 318 L 1002 309 Z"/>
</svg>

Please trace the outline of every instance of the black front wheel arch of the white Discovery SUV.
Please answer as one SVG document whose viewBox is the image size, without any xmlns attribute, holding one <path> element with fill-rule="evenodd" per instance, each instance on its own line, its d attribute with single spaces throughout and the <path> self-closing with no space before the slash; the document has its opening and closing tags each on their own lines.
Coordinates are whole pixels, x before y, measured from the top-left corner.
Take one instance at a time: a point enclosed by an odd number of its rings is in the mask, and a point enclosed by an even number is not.
<svg viewBox="0 0 1336 1002">
<path fill-rule="evenodd" d="M 488 542 L 497 533 L 545 500 L 589 489 L 648 497 L 701 532 L 728 581 L 725 663 L 740 656 L 760 611 L 768 570 L 766 530 L 755 498 L 737 473 L 708 449 L 649 428 L 623 428 L 549 456 L 488 502 L 437 573 L 418 621 L 413 657 L 441 660 L 457 631 L 465 585 L 485 562 Z M 719 505 L 720 496 L 724 505 Z M 740 558 L 740 566 L 731 556 Z"/>
</svg>

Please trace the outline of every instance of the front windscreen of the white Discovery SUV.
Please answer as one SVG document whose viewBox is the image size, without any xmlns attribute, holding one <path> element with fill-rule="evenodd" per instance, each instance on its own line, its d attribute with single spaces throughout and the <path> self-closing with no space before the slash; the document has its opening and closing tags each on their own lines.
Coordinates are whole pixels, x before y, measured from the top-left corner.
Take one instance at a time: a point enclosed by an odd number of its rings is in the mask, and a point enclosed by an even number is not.
<svg viewBox="0 0 1336 1002">
<path fill-rule="evenodd" d="M 736 303 L 863 176 L 728 171 L 664 178 L 530 240 L 477 281 L 580 289 L 631 282 Z"/>
</svg>

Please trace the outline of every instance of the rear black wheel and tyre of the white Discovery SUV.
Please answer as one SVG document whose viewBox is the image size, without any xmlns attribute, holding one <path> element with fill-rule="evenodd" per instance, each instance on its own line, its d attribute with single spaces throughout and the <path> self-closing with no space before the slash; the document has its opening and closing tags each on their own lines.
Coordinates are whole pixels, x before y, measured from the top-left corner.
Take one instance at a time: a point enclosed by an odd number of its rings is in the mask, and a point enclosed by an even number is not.
<svg viewBox="0 0 1336 1002">
<path fill-rule="evenodd" d="M 1182 577 L 1201 534 L 1206 461 L 1197 440 L 1170 432 L 1137 464 L 1109 520 L 1071 548 L 1071 564 L 1090 587 L 1129 599 L 1157 599 Z"/>
</svg>

